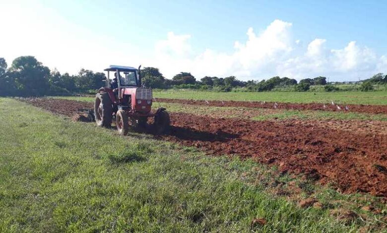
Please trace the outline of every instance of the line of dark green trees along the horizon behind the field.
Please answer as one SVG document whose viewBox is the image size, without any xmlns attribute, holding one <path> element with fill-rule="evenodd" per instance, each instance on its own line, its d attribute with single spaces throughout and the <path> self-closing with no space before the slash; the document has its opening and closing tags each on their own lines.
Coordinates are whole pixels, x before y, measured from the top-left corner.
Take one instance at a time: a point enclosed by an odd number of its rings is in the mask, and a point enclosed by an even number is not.
<svg viewBox="0 0 387 233">
<path fill-rule="evenodd" d="M 235 76 L 205 76 L 199 81 L 190 72 L 180 72 L 172 79 L 163 76 L 158 68 L 144 67 L 141 69 L 142 83 L 145 87 L 169 89 L 197 89 L 228 92 L 236 88 L 244 91 L 270 91 L 278 87 L 290 87 L 294 91 L 308 91 L 312 85 L 323 85 L 325 91 L 335 91 L 335 87 L 327 85 L 326 77 L 306 78 L 297 82 L 288 77 L 272 77 L 267 80 L 241 81 Z M 4 58 L 0 58 L 0 96 L 44 96 L 70 95 L 73 93 L 95 93 L 105 86 L 105 74 L 81 69 L 77 74 L 61 74 L 58 70 L 50 70 L 33 56 L 15 58 L 8 67 Z M 372 90 L 373 84 L 387 83 L 387 75 L 378 73 L 364 80 L 361 90 Z"/>
</svg>

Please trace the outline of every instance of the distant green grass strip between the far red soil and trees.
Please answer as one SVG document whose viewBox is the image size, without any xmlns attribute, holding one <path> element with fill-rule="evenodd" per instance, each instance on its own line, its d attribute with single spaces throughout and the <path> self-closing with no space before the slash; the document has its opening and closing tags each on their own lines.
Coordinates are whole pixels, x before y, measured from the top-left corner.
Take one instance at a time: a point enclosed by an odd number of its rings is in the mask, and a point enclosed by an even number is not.
<svg viewBox="0 0 387 233">
<path fill-rule="evenodd" d="M 387 105 L 387 92 L 209 92 L 193 90 L 154 91 L 156 98 Z"/>
</svg>

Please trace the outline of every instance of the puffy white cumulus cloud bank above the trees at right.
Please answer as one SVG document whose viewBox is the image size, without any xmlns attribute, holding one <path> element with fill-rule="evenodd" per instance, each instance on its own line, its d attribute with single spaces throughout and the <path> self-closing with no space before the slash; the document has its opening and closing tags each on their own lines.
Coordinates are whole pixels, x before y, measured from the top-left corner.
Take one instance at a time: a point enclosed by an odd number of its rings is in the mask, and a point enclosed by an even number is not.
<svg viewBox="0 0 387 233">
<path fill-rule="evenodd" d="M 316 38 L 305 47 L 294 40 L 292 23 L 274 20 L 261 33 L 247 30 L 245 42 L 236 41 L 234 51 L 226 54 L 211 49 L 192 51 L 190 35 L 168 33 L 157 43 L 156 60 L 167 77 L 191 71 L 198 78 L 235 75 L 240 79 L 287 76 L 296 79 L 328 76 L 331 80 L 357 80 L 376 72 L 386 72 L 387 57 L 379 57 L 370 48 L 349 42 L 342 49 L 326 48 L 326 39 Z M 163 51 L 166 51 L 165 53 Z M 171 55 L 174 56 L 171 56 Z"/>
</svg>

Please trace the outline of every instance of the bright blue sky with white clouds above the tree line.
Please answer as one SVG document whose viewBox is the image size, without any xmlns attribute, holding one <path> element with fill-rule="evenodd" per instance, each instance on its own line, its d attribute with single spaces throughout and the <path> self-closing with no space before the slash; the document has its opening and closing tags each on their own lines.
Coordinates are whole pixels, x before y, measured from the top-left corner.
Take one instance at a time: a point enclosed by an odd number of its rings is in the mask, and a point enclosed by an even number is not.
<svg viewBox="0 0 387 233">
<path fill-rule="evenodd" d="M 261 80 L 387 73 L 387 1 L 0 0 L 0 57 Z"/>
</svg>

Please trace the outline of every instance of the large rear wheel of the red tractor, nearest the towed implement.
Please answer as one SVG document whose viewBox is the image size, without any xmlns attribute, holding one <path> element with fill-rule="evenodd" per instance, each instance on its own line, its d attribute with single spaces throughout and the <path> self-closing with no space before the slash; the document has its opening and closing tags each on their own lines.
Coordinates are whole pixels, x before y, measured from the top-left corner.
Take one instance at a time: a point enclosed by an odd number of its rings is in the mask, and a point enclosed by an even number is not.
<svg viewBox="0 0 387 233">
<path fill-rule="evenodd" d="M 95 96 L 94 101 L 94 116 L 95 122 L 101 127 L 112 127 L 112 101 L 109 94 L 100 92 Z"/>
</svg>

